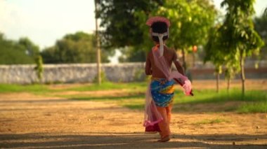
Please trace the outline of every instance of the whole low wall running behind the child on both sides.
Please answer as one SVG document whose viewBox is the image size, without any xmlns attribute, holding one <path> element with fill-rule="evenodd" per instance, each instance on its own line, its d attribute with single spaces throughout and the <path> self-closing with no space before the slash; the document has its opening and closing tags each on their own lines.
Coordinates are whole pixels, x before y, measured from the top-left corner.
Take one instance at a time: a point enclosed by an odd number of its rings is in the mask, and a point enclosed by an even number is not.
<svg viewBox="0 0 267 149">
<path fill-rule="evenodd" d="M 29 84 L 37 82 L 35 65 L 0 65 L 0 83 Z M 145 79 L 145 63 L 102 64 L 106 78 L 112 82 L 132 82 Z M 196 63 L 189 69 L 193 79 L 214 79 L 214 66 Z M 259 68 L 246 64 L 247 78 L 267 78 L 267 62 Z M 96 78 L 96 64 L 45 64 L 43 83 L 91 83 Z M 238 77 L 238 76 L 237 76 Z M 222 76 L 223 78 L 223 76 Z"/>
</svg>

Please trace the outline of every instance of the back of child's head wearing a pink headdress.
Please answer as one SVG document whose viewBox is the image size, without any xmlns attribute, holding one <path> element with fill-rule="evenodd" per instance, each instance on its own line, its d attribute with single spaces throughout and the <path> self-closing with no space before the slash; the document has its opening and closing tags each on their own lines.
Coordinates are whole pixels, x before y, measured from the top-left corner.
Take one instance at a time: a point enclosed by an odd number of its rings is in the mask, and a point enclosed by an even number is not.
<svg viewBox="0 0 267 149">
<path fill-rule="evenodd" d="M 150 17 L 146 22 L 150 26 L 150 34 L 152 40 L 159 43 L 159 34 L 162 34 L 162 40 L 165 41 L 169 38 L 170 22 L 165 17 Z"/>
</svg>

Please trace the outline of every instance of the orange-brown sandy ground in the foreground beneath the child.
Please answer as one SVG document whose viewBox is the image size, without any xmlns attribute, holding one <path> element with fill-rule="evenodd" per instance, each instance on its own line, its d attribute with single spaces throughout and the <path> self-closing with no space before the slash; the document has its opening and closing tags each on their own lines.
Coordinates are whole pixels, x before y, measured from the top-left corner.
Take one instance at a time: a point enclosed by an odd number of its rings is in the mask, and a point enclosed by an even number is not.
<svg viewBox="0 0 267 149">
<path fill-rule="evenodd" d="M 174 111 L 168 143 L 142 122 L 143 111 L 108 102 L 0 94 L 0 148 L 267 148 L 267 113 Z"/>
</svg>

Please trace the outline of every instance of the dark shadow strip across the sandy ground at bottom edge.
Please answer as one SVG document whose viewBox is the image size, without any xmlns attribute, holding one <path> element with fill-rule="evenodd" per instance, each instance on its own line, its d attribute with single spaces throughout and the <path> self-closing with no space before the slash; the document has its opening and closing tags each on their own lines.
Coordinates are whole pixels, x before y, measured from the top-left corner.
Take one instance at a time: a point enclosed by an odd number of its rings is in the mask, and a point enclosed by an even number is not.
<svg viewBox="0 0 267 149">
<path fill-rule="evenodd" d="M 0 148 L 267 148 L 265 135 L 180 135 L 170 142 L 157 143 L 157 134 L 85 133 L 85 134 L 0 134 Z M 233 145 L 235 142 L 235 145 Z"/>
</svg>

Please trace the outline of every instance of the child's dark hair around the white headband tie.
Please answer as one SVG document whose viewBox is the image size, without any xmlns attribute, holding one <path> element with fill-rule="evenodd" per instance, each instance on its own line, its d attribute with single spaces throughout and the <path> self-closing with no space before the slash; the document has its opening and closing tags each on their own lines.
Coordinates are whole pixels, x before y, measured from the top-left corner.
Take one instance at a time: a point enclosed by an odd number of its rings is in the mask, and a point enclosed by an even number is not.
<svg viewBox="0 0 267 149">
<path fill-rule="evenodd" d="M 155 22 L 151 25 L 152 32 L 162 34 L 168 31 L 167 24 L 165 22 Z M 165 41 L 169 36 L 164 36 L 162 39 Z M 157 36 L 152 36 L 152 40 L 159 43 Z"/>
</svg>

